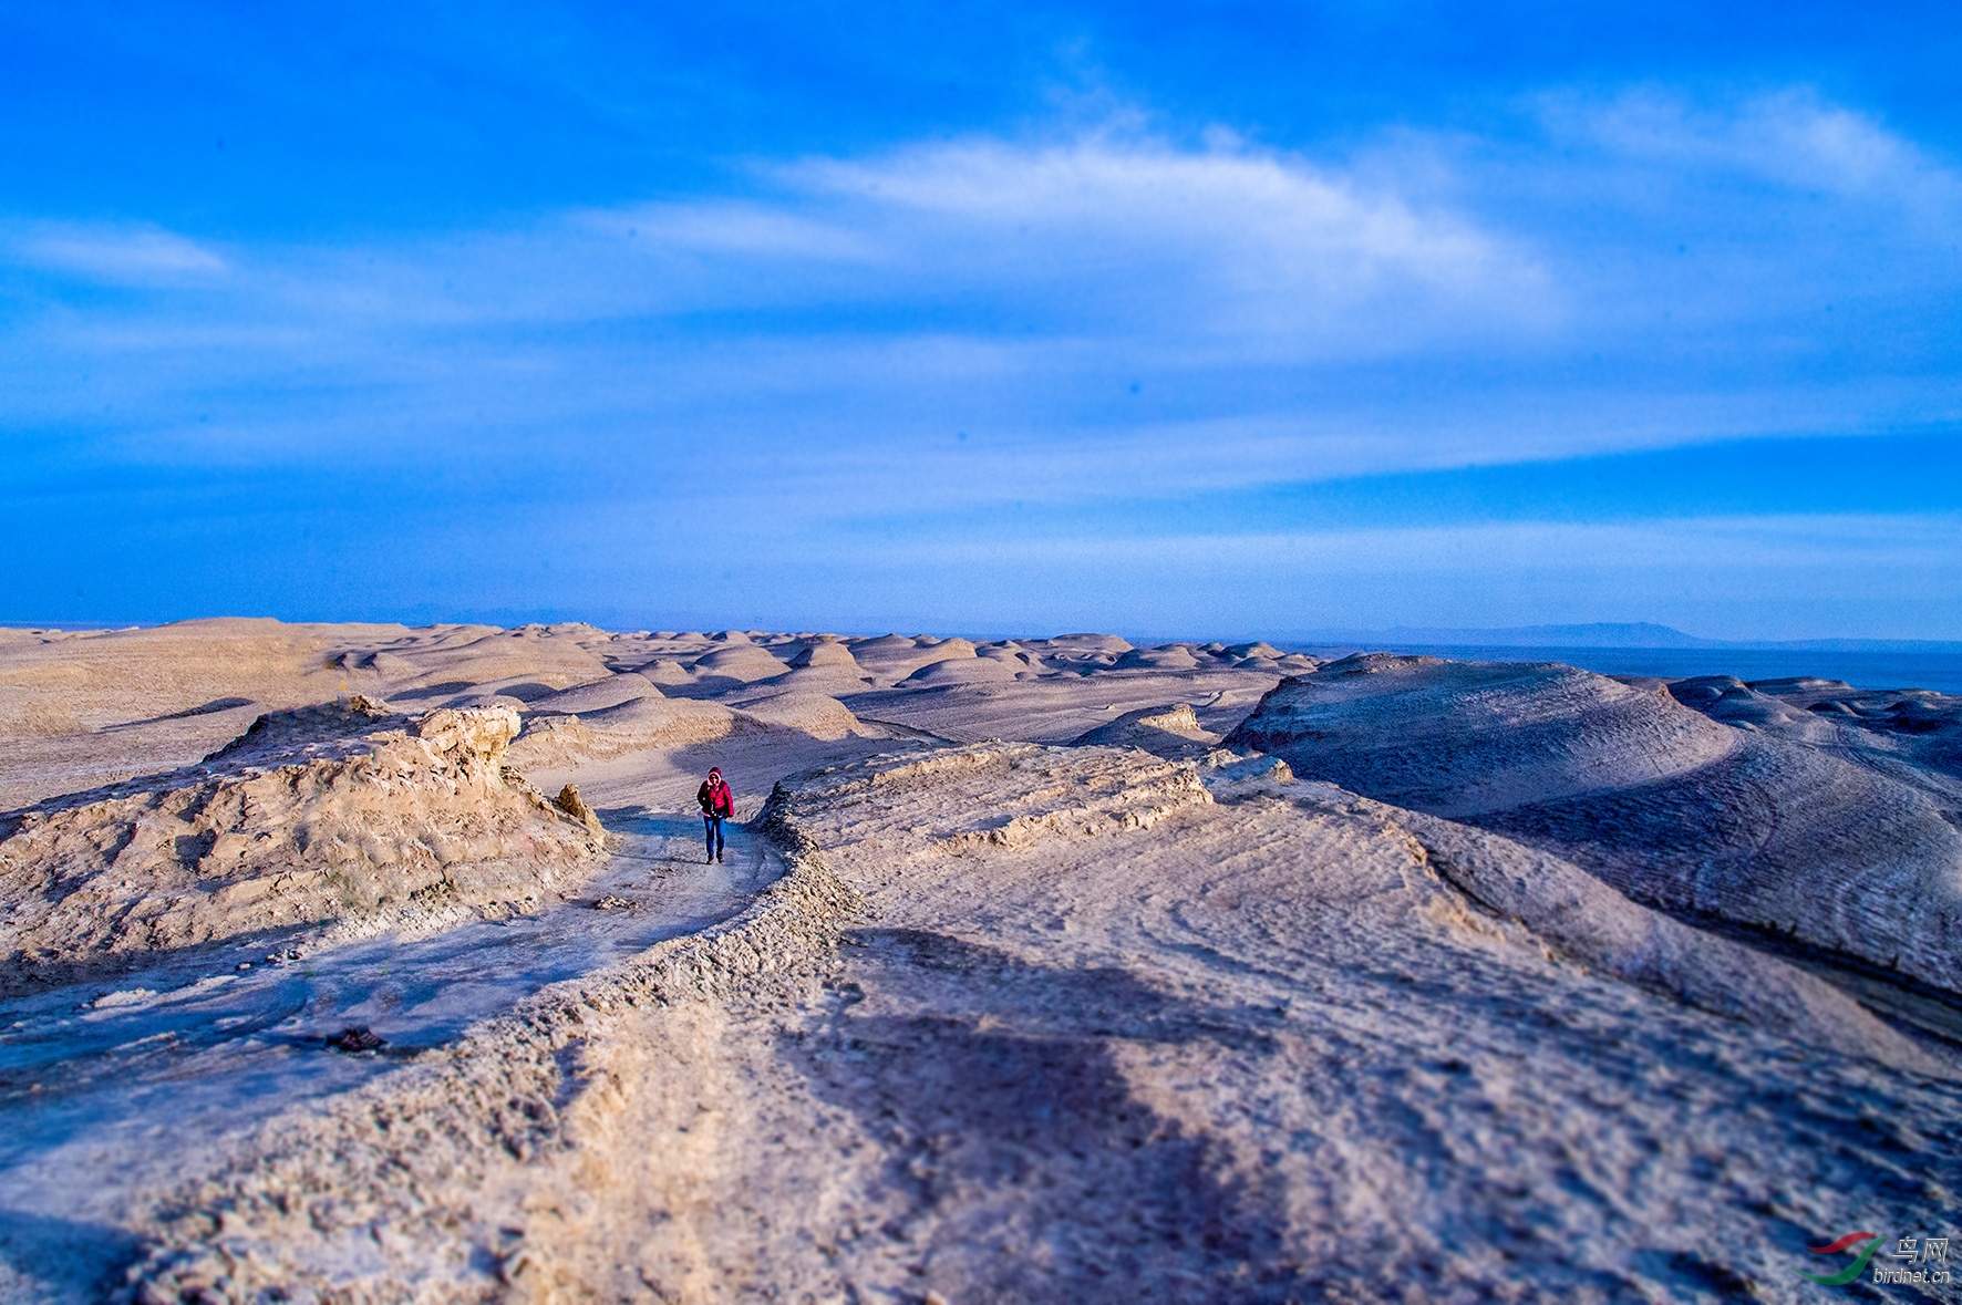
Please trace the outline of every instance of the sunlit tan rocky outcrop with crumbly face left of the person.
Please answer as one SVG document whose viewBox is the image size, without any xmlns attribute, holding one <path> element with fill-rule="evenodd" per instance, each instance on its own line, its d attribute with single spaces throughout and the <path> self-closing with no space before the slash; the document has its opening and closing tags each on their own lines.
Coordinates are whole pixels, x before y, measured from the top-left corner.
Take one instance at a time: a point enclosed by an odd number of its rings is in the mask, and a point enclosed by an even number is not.
<svg viewBox="0 0 1962 1305">
<path fill-rule="evenodd" d="M 549 893 L 598 852 L 504 769 L 508 706 L 353 699 L 261 716 L 206 763 L 16 812 L 0 991 L 118 958 Z"/>
</svg>

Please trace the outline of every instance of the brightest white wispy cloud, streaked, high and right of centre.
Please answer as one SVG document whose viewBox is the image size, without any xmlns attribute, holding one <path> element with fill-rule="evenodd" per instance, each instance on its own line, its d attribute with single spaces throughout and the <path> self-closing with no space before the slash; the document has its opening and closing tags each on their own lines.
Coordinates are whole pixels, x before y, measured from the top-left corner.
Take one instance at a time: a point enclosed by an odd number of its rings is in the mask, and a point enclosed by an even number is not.
<svg viewBox="0 0 1962 1305">
<path fill-rule="evenodd" d="M 910 279 L 1095 287 L 1152 334 L 1354 355 L 1556 316 L 1532 251 L 1389 184 L 1214 133 L 920 145 L 781 173 Z"/>
</svg>

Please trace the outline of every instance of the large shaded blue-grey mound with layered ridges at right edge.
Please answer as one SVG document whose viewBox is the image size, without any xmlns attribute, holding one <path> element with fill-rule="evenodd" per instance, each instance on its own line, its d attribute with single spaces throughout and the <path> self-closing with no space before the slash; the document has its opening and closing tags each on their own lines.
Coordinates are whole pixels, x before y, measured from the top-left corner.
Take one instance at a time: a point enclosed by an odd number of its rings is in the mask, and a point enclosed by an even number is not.
<svg viewBox="0 0 1962 1305">
<path fill-rule="evenodd" d="M 1562 665 L 1350 657 L 1226 742 L 1556 850 L 1636 901 L 1962 993 L 1962 832 L 1938 775 L 1783 742 L 1778 720 L 1736 730 Z"/>
</svg>

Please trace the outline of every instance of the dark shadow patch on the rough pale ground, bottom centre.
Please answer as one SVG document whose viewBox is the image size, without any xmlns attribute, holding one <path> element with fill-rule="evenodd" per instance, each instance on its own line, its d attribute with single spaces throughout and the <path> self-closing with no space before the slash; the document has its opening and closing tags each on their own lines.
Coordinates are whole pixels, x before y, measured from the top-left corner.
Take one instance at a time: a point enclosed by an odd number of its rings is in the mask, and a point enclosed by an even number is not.
<svg viewBox="0 0 1962 1305">
<path fill-rule="evenodd" d="M 1118 967 L 1034 966 L 926 930 L 861 928 L 846 940 L 852 977 L 834 989 L 830 1026 L 787 1036 L 785 1052 L 820 1099 L 887 1140 L 881 1183 L 934 1215 L 920 1254 L 936 1287 L 1144 1299 L 1118 1283 L 1197 1272 L 1207 1285 L 1187 1278 L 1187 1289 L 1207 1299 L 1271 1297 L 1275 1283 L 1240 1266 L 1277 1266 L 1277 1193 L 1232 1175 L 1213 1140 L 1134 1095 L 1118 1064 L 1124 1044 L 1258 1052 L 1271 1046 L 1260 1013 L 1183 1001 Z M 885 1011 L 859 1009 L 861 983 Z"/>
</svg>

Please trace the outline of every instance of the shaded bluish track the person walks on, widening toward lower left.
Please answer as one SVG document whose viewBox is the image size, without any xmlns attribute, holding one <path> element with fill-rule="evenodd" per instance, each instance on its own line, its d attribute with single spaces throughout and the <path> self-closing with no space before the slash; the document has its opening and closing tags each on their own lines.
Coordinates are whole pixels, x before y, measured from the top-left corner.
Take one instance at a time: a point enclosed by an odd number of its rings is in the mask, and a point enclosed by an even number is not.
<svg viewBox="0 0 1962 1305">
<path fill-rule="evenodd" d="M 602 814 L 616 850 L 538 914 L 271 964 L 259 948 L 230 958 L 247 969 L 200 950 L 0 1003 L 4 1258 L 86 1287 L 128 1258 L 118 1228 L 137 1207 L 271 1113 L 349 1091 L 547 983 L 726 920 L 783 873 L 777 852 L 736 824 L 726 861 L 706 865 L 693 814 Z M 332 1050 L 345 1028 L 387 1046 Z"/>
</svg>

